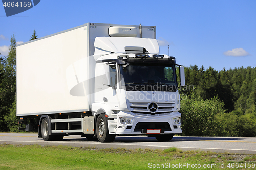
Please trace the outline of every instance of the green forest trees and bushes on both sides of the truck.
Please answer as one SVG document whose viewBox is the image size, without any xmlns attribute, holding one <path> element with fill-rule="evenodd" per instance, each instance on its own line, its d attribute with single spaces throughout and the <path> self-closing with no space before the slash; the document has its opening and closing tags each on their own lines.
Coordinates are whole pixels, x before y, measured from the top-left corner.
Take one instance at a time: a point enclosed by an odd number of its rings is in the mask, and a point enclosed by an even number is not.
<svg viewBox="0 0 256 170">
<path fill-rule="evenodd" d="M 185 67 L 185 82 L 179 89 L 183 136 L 256 136 L 256 68 L 193 65 Z M 0 131 L 17 132 L 18 126 L 13 35 L 8 55 L 0 55 Z"/>
</svg>

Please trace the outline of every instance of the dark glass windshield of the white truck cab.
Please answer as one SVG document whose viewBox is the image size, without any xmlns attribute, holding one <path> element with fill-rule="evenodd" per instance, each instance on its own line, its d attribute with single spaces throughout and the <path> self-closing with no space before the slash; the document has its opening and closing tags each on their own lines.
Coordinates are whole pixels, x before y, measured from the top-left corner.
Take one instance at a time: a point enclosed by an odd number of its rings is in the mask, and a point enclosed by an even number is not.
<svg viewBox="0 0 256 170">
<path fill-rule="evenodd" d="M 120 66 L 121 86 L 127 91 L 176 91 L 175 65 L 130 63 Z"/>
</svg>

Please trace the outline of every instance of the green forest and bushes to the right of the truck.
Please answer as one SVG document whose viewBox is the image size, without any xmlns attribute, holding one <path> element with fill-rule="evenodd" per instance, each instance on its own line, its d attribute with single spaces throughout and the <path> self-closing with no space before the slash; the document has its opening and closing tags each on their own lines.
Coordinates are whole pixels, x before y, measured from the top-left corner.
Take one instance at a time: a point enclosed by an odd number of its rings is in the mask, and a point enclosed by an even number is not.
<svg viewBox="0 0 256 170">
<path fill-rule="evenodd" d="M 256 69 L 185 67 L 181 92 L 185 136 L 256 136 Z M 189 88 L 188 88 L 189 87 Z"/>
</svg>

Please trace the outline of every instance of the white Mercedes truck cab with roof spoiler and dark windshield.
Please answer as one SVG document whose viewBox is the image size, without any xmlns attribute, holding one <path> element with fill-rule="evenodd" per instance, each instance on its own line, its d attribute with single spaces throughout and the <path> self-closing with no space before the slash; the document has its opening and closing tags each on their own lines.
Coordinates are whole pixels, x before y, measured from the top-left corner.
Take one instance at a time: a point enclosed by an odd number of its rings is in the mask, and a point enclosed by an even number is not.
<svg viewBox="0 0 256 170">
<path fill-rule="evenodd" d="M 148 38 L 97 37 L 94 46 L 92 111 L 96 119 L 102 113 L 108 116 L 107 140 L 148 135 L 168 141 L 182 133 L 175 57 L 159 55 L 157 40 Z M 94 135 L 104 142 L 102 126 L 95 128 Z"/>
</svg>

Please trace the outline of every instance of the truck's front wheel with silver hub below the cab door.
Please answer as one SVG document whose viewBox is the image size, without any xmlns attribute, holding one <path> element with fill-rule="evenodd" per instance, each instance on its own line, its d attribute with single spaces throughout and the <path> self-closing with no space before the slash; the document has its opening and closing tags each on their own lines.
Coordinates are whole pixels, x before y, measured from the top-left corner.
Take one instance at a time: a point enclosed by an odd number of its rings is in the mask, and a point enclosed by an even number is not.
<svg viewBox="0 0 256 170">
<path fill-rule="evenodd" d="M 108 121 L 105 114 L 100 114 L 96 122 L 96 134 L 98 140 L 103 142 L 112 142 L 115 140 L 116 135 L 110 135 L 108 129 Z"/>
</svg>

